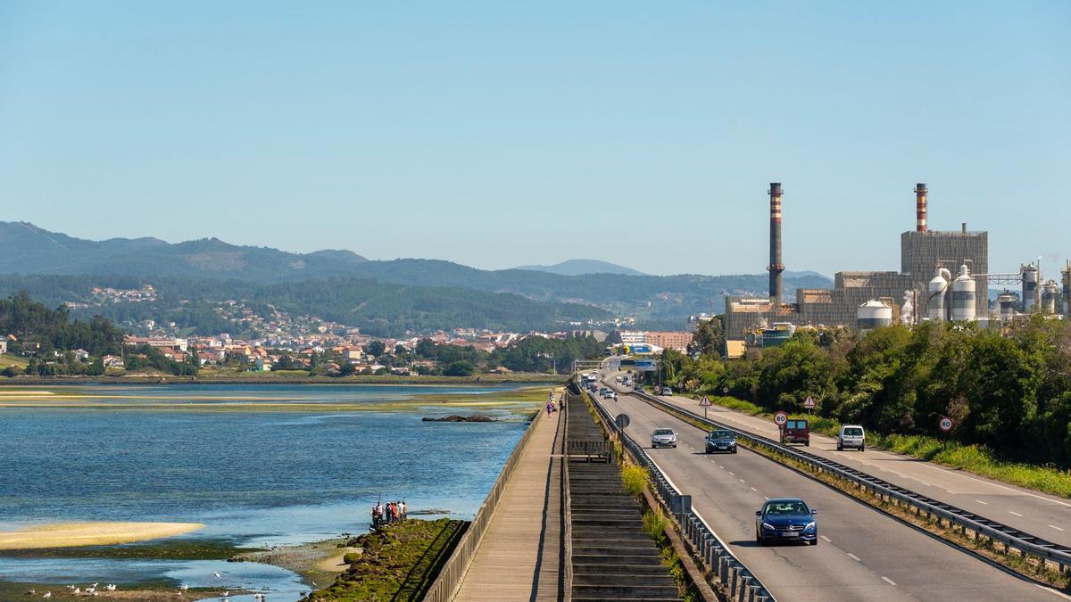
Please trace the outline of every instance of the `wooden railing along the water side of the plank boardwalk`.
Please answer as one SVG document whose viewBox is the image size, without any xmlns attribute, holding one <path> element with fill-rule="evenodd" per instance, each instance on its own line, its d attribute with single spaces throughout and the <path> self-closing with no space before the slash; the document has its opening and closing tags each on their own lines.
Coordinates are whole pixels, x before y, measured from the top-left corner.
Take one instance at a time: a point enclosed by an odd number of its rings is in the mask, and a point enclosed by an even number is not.
<svg viewBox="0 0 1071 602">
<path fill-rule="evenodd" d="M 509 483 L 510 477 L 516 470 L 521 454 L 524 453 L 532 433 L 536 432 L 536 425 L 539 424 L 540 420 L 543 420 L 545 413 L 543 410 L 538 411 L 536 418 L 528 423 L 528 428 L 521 436 L 516 447 L 513 448 L 513 453 L 510 454 L 510 457 L 502 466 L 502 471 L 498 473 L 498 480 L 495 481 L 491 493 L 483 500 L 483 505 L 477 511 L 472 523 L 469 524 L 468 530 L 462 536 L 457 547 L 454 548 L 454 553 L 450 555 L 450 558 L 439 571 L 439 575 L 435 577 L 435 582 L 428 588 L 424 600 L 428 602 L 450 602 L 457 595 L 465 573 L 468 572 L 469 565 L 472 563 L 472 558 L 476 557 L 476 553 L 480 548 L 480 542 L 483 540 L 484 533 L 487 532 L 487 527 L 491 525 L 491 520 L 498 508 L 498 501 L 502 497 L 502 492 L 506 491 L 506 485 Z"/>
</svg>

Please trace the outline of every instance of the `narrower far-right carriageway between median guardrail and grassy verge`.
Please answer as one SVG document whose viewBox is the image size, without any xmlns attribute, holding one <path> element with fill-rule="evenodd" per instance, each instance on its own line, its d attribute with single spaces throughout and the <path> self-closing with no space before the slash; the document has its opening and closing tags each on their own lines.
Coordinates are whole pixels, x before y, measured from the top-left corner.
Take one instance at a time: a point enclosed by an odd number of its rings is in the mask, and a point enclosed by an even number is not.
<svg viewBox="0 0 1071 602">
<path fill-rule="evenodd" d="M 606 383 L 619 391 L 623 390 L 612 377 L 607 378 Z M 660 398 L 681 409 L 703 415 L 703 408 L 695 400 L 679 395 Z M 778 427 L 770 420 L 719 406 L 710 406 L 707 410 L 707 418 L 710 420 L 754 435 L 778 438 Z M 811 446 L 806 451 L 1032 536 L 1071 545 L 1069 500 L 873 448 L 868 448 L 865 452 L 856 450 L 839 452 L 836 439 L 821 435 L 811 435 Z"/>
</svg>

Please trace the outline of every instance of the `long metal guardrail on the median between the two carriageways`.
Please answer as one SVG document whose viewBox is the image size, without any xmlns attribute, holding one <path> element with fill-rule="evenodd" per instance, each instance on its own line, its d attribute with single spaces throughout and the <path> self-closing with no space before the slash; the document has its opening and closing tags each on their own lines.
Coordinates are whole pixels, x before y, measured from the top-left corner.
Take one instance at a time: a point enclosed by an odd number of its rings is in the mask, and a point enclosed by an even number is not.
<svg viewBox="0 0 1071 602">
<path fill-rule="evenodd" d="M 633 391 L 632 394 L 659 409 L 668 411 L 669 413 L 684 416 L 690 420 L 714 428 L 731 431 L 736 434 L 738 439 L 742 439 L 751 446 L 765 447 L 768 450 L 788 456 L 796 462 L 808 465 L 821 472 L 828 472 L 838 478 L 856 483 L 862 488 L 863 492 L 869 490 L 871 493 L 884 499 L 895 500 L 899 503 L 914 508 L 916 513 L 924 512 L 927 518 L 930 516 L 936 516 L 938 524 L 941 520 L 948 521 L 950 526 L 959 526 L 964 531 L 964 535 L 966 535 L 966 530 L 974 531 L 976 537 L 985 537 L 994 542 L 1002 544 L 1005 546 L 1006 554 L 1009 550 L 1019 551 L 1021 556 L 1030 554 L 1038 557 L 1042 561 L 1056 565 L 1057 570 L 1060 572 L 1066 572 L 1069 570 L 1069 567 L 1071 567 L 1071 548 L 1067 546 L 1052 543 L 1039 537 L 1031 536 L 1027 532 L 997 523 L 996 521 L 979 516 L 974 512 L 968 512 L 949 503 L 929 498 L 922 494 L 894 485 L 888 481 L 861 472 L 849 466 L 790 448 L 773 439 L 768 439 L 746 431 L 741 431 L 738 427 L 704 418 L 697 413 L 666 403 L 665 401 L 649 393 Z"/>
</svg>

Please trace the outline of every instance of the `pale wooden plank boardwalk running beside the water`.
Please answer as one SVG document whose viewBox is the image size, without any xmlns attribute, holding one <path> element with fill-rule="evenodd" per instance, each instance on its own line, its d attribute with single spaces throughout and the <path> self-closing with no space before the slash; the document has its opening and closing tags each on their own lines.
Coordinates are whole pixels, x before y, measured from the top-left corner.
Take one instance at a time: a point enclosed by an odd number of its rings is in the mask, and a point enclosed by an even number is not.
<svg viewBox="0 0 1071 602">
<path fill-rule="evenodd" d="M 455 600 L 563 599 L 561 415 L 533 425 Z"/>
</svg>

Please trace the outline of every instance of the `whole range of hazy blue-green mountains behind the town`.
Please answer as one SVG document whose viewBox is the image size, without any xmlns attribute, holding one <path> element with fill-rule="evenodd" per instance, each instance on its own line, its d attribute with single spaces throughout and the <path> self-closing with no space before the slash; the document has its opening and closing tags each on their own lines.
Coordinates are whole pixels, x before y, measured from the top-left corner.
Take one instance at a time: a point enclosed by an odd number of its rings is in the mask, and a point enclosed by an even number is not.
<svg viewBox="0 0 1071 602">
<path fill-rule="evenodd" d="M 375 299 L 377 320 L 411 318 L 401 308 L 410 307 L 421 314 L 423 325 L 444 323 L 442 316 L 453 315 L 452 308 L 433 303 L 435 287 L 444 298 L 457 300 L 457 290 L 468 289 L 497 297 L 474 296 L 465 315 L 485 312 L 499 315 L 495 326 L 510 323 L 531 326 L 537 316 L 555 320 L 577 320 L 610 316 L 635 317 L 650 328 L 681 329 L 689 315 L 721 313 L 723 299 L 730 295 L 763 295 L 767 290 L 767 274 L 670 276 L 630 275 L 614 273 L 630 270 L 592 260 L 565 261 L 546 269 L 556 271 L 599 270 L 603 273 L 561 274 L 526 269 L 480 270 L 439 259 L 368 260 L 349 251 L 288 253 L 263 246 L 240 246 L 218 239 L 167 243 L 154 238 L 109 239 L 90 241 L 51 232 L 27 223 L 0 222 L 0 292 L 27 289 L 47 302 L 81 302 L 91 296 L 94 286 L 127 286 L 152 284 L 166 295 L 162 299 L 191 299 L 197 291 L 211 291 L 213 298 L 236 298 L 250 286 L 291 285 L 288 291 L 319 285 L 299 286 L 332 280 L 340 289 L 356 295 L 343 310 L 343 301 L 332 301 L 337 318 L 359 317 L 359 308 Z M 61 277 L 85 276 L 85 277 Z M 390 289 L 390 285 L 409 288 Z M 786 274 L 785 295 L 796 288 L 832 286 L 826 276 L 814 272 Z M 386 311 L 389 291 L 398 295 L 398 312 Z M 363 292 L 362 292 L 363 291 Z M 269 294 L 283 295 L 282 289 L 257 289 L 257 298 Z M 288 311 L 321 315 L 315 296 L 286 294 Z M 498 297 L 504 296 L 504 297 Z M 511 298 L 524 298 L 514 299 Z M 199 297 L 197 297 L 199 298 Z M 536 311 L 530 301 L 554 305 Z M 583 306 L 590 311 L 582 310 Z M 483 307 L 483 308 L 481 308 Z M 503 308 L 509 307 L 510 311 Z M 175 307 L 161 307 L 171 311 Z M 441 318 L 441 319 L 440 319 Z M 332 318 L 334 319 L 334 318 Z M 372 319 L 371 317 L 368 319 Z M 344 319 L 340 319 L 344 321 Z M 360 321 L 360 320 L 357 320 Z M 414 326 L 417 326 L 414 323 Z M 473 326 L 457 323 L 456 326 Z M 547 325 L 550 326 L 550 325 Z"/>
</svg>

